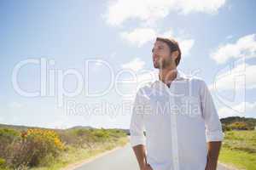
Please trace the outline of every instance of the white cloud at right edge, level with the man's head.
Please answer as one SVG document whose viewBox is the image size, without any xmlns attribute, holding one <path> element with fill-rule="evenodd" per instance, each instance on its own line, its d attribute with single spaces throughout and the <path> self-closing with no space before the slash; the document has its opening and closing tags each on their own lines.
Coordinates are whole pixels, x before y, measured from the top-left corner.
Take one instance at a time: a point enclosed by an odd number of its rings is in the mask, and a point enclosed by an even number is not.
<svg viewBox="0 0 256 170">
<path fill-rule="evenodd" d="M 216 52 L 211 54 L 211 58 L 218 64 L 222 64 L 228 59 L 241 57 L 256 57 L 256 34 L 241 37 L 235 43 L 221 45 Z"/>
</svg>

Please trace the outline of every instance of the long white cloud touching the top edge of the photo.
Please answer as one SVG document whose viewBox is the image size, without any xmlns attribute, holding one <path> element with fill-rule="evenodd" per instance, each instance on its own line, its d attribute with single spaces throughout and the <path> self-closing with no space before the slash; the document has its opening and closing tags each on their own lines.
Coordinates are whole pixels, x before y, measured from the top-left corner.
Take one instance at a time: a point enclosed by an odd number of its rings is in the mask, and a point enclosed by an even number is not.
<svg viewBox="0 0 256 170">
<path fill-rule="evenodd" d="M 111 26 L 120 26 L 132 19 L 154 23 L 172 11 L 180 14 L 212 14 L 223 7 L 224 3 L 225 0 L 116 0 L 108 3 L 108 11 L 104 17 Z"/>
</svg>

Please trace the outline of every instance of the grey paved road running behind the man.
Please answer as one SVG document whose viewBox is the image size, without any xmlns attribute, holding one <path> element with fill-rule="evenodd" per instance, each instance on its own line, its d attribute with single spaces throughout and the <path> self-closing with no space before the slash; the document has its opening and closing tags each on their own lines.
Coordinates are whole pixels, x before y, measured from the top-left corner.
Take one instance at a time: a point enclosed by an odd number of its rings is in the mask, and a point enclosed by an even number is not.
<svg viewBox="0 0 256 170">
<path fill-rule="evenodd" d="M 75 168 L 75 170 L 139 170 L 139 167 L 131 145 L 127 144 L 124 148 L 98 157 L 94 161 Z M 218 165 L 218 170 L 228 169 Z"/>
</svg>

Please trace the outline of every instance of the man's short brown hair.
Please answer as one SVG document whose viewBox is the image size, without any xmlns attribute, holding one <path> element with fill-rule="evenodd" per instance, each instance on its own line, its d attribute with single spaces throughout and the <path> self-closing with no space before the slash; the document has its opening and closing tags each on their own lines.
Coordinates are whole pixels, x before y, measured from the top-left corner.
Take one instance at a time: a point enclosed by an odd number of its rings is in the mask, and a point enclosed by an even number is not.
<svg viewBox="0 0 256 170">
<path fill-rule="evenodd" d="M 178 45 L 177 41 L 175 41 L 172 38 L 164 38 L 164 37 L 156 37 L 156 41 L 166 42 L 166 44 L 170 48 L 171 53 L 174 52 L 174 51 L 178 52 L 177 59 L 175 59 L 175 63 L 176 63 L 176 66 L 177 66 L 179 64 L 180 59 L 181 59 L 181 51 L 180 51 L 180 48 L 179 48 L 179 45 Z"/>
</svg>

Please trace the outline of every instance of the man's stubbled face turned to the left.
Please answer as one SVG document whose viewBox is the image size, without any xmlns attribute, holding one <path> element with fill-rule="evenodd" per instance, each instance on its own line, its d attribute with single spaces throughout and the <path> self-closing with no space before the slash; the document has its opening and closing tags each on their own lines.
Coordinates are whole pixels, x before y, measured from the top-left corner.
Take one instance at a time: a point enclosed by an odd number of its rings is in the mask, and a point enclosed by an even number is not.
<svg viewBox="0 0 256 170">
<path fill-rule="evenodd" d="M 166 42 L 154 42 L 154 48 L 152 48 L 152 57 L 154 68 L 160 69 L 161 67 L 162 69 L 172 64 L 171 51 Z"/>
</svg>

